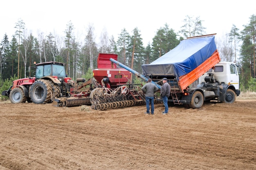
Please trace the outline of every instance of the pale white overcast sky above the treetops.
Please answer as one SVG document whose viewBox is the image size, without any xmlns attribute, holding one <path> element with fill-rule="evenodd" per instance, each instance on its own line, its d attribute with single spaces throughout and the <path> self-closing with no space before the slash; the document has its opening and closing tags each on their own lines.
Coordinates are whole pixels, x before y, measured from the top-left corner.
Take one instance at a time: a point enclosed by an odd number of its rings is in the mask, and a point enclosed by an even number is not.
<svg viewBox="0 0 256 170">
<path fill-rule="evenodd" d="M 179 31 L 186 15 L 199 16 L 206 33 L 217 33 L 216 38 L 229 33 L 232 24 L 241 31 L 250 16 L 256 15 L 254 0 L 4 0 L 0 5 L 0 40 L 7 33 L 10 41 L 19 18 L 35 37 L 38 30 L 64 36 L 71 20 L 74 35 L 81 42 L 89 24 L 93 24 L 96 38 L 105 28 L 115 41 L 122 29 L 132 35 L 137 27 L 146 46 L 165 23 Z"/>
</svg>

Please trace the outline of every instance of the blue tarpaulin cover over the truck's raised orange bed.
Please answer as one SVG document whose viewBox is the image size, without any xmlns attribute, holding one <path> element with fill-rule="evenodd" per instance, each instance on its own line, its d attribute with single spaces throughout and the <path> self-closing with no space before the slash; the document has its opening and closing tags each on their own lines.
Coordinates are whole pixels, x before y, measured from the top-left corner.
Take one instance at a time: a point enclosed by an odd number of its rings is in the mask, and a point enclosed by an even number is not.
<svg viewBox="0 0 256 170">
<path fill-rule="evenodd" d="M 150 64 L 143 64 L 143 75 L 174 76 L 179 79 L 211 57 L 216 50 L 214 35 L 182 40 L 162 57 Z"/>
</svg>

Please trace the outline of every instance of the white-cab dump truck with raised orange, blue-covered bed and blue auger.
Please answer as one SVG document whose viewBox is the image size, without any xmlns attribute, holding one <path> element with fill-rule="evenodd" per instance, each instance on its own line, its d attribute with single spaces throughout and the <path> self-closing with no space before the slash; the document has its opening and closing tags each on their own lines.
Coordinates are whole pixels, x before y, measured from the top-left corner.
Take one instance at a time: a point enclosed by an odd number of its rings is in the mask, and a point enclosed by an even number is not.
<svg viewBox="0 0 256 170">
<path fill-rule="evenodd" d="M 146 80 L 151 78 L 161 85 L 167 78 L 171 86 L 169 104 L 183 104 L 187 108 L 201 108 L 204 102 L 233 103 L 240 95 L 240 66 L 232 62 L 220 62 L 215 35 L 202 35 L 182 40 L 178 46 L 150 64 L 143 64 L 142 74 L 123 66 L 131 73 Z M 191 84 L 201 79 L 201 84 Z M 158 86 L 159 87 L 159 86 Z"/>
</svg>

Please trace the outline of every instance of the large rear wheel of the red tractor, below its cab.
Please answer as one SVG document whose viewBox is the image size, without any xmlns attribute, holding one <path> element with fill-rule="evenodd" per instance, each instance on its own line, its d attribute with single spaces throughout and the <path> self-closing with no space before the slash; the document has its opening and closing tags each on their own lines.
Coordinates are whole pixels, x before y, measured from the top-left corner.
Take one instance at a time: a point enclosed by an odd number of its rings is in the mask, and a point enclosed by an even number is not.
<svg viewBox="0 0 256 170">
<path fill-rule="evenodd" d="M 45 79 L 39 79 L 31 86 L 30 98 L 35 104 L 45 104 L 52 102 L 52 86 Z"/>
</svg>

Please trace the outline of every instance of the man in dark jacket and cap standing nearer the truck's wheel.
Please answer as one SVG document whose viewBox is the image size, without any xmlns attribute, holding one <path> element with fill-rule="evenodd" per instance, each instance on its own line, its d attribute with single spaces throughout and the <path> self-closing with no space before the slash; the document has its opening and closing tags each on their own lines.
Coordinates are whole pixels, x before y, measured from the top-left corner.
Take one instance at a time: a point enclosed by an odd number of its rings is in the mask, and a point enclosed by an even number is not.
<svg viewBox="0 0 256 170">
<path fill-rule="evenodd" d="M 160 96 L 163 99 L 164 103 L 164 111 L 162 112 L 163 115 L 168 113 L 168 97 L 171 93 L 170 84 L 167 82 L 167 78 L 163 78 L 163 84 L 160 89 Z"/>
</svg>

